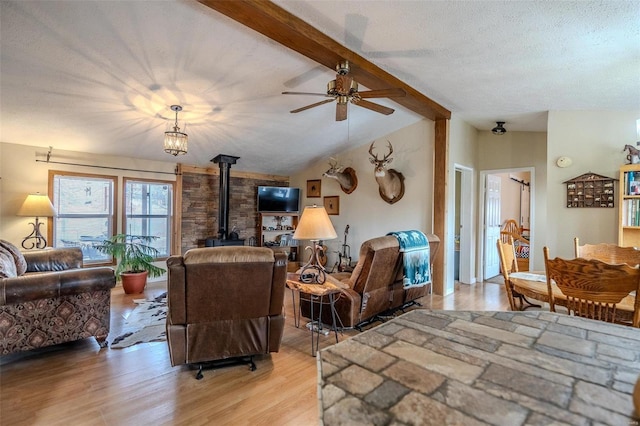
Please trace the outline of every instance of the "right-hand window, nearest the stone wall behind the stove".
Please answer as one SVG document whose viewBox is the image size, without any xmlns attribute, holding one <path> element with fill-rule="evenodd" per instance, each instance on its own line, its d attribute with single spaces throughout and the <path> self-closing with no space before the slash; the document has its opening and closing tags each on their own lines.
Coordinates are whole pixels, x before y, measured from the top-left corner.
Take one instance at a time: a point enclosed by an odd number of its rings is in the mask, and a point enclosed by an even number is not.
<svg viewBox="0 0 640 426">
<path fill-rule="evenodd" d="M 124 232 L 158 237 L 160 257 L 171 253 L 172 206 L 173 182 L 124 179 Z"/>
</svg>

